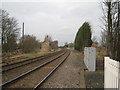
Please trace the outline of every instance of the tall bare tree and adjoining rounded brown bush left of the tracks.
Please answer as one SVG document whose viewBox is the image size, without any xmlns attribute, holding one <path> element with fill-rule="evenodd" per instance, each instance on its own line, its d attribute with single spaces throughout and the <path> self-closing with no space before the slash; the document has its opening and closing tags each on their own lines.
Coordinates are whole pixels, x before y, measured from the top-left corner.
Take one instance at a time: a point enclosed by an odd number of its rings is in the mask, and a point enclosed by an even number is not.
<svg viewBox="0 0 120 90">
<path fill-rule="evenodd" d="M 20 30 L 17 19 L 10 17 L 5 10 L 2 11 L 2 52 L 14 52 L 18 49 L 25 53 L 33 52 L 40 47 L 40 43 L 33 35 L 25 35 L 20 38 Z"/>
</svg>

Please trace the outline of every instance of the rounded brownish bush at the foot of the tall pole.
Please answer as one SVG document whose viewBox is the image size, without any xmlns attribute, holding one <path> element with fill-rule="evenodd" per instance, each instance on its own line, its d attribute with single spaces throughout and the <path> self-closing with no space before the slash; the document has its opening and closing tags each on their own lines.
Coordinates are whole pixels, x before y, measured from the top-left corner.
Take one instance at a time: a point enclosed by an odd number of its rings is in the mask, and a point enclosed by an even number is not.
<svg viewBox="0 0 120 90">
<path fill-rule="evenodd" d="M 19 47 L 23 50 L 25 53 L 34 52 L 36 49 L 40 48 L 40 44 L 36 40 L 36 37 L 25 35 L 24 40 L 21 39 L 19 43 Z"/>
</svg>

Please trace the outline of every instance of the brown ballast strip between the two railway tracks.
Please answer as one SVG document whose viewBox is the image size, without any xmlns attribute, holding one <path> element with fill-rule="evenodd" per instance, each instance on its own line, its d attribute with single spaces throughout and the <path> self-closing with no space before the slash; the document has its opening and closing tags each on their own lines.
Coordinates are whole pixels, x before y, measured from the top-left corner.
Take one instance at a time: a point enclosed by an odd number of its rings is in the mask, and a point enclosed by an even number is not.
<svg viewBox="0 0 120 90">
<path fill-rule="evenodd" d="M 50 55 L 49 57 L 46 57 L 44 59 L 38 59 L 38 60 L 33 61 L 32 63 L 23 64 L 23 65 L 18 66 L 16 68 L 7 70 L 7 71 L 2 73 L 2 83 L 8 82 L 11 79 L 13 79 L 13 78 L 31 70 L 31 69 L 33 69 L 33 68 L 43 64 L 44 62 L 50 61 L 54 57 L 59 57 L 64 52 L 65 51 L 63 50 L 63 51 L 57 52 L 54 55 Z"/>
</svg>

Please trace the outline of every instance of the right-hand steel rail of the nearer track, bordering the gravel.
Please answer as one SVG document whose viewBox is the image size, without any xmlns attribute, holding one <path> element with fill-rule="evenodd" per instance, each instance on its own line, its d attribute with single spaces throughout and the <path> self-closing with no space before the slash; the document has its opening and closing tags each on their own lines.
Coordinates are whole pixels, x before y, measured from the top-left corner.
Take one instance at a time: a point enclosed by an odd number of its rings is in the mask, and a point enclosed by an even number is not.
<svg viewBox="0 0 120 90">
<path fill-rule="evenodd" d="M 46 77 L 44 77 L 32 90 L 36 90 L 39 88 L 39 86 L 48 78 L 50 77 L 50 75 L 55 72 L 55 70 L 69 57 L 71 52 L 69 52 L 69 54 L 50 72 L 47 74 Z"/>
</svg>

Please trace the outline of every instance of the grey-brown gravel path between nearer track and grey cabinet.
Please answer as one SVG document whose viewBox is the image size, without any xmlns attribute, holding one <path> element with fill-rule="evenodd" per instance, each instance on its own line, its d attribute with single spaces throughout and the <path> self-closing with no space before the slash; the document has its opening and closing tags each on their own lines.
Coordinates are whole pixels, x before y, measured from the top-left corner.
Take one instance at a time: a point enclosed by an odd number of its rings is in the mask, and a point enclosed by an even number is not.
<svg viewBox="0 0 120 90">
<path fill-rule="evenodd" d="M 68 59 L 49 77 L 41 88 L 80 88 L 81 55 L 72 51 Z"/>
</svg>

